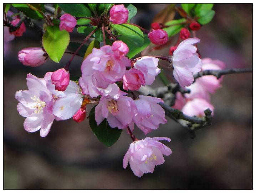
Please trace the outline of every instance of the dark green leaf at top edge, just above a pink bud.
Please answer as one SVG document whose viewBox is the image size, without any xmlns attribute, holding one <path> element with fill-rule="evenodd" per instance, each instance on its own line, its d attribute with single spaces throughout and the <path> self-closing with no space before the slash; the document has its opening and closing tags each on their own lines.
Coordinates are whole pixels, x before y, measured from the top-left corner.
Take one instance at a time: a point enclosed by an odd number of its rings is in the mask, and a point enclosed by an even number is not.
<svg viewBox="0 0 256 193">
<path fill-rule="evenodd" d="M 89 10 L 88 7 L 86 7 L 81 3 L 59 3 L 58 5 L 64 12 L 72 16 L 76 16 L 76 17 L 92 16 L 91 10 Z"/>
</svg>

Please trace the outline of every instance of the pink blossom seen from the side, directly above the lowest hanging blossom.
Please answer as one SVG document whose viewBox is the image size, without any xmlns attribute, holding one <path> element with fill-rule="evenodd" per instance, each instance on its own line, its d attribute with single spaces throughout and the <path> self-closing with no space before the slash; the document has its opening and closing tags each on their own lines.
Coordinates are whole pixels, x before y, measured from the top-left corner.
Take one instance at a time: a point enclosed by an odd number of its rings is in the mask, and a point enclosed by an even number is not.
<svg viewBox="0 0 256 193">
<path fill-rule="evenodd" d="M 159 128 L 159 124 L 167 123 L 164 118 L 164 109 L 157 103 L 164 101 L 157 97 L 139 95 L 137 100 L 134 100 L 138 113 L 133 117 L 133 122 L 141 129 L 145 135 L 153 129 Z"/>
</svg>

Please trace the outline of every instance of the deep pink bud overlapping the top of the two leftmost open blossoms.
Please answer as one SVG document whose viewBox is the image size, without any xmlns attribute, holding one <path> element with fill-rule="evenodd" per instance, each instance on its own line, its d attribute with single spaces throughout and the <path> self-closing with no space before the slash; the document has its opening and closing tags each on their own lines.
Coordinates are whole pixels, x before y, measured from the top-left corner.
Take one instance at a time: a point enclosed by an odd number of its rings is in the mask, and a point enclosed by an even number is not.
<svg viewBox="0 0 256 193">
<path fill-rule="evenodd" d="M 64 68 L 58 69 L 52 73 L 52 84 L 55 85 L 55 90 L 65 91 L 69 84 L 69 71 Z"/>
</svg>

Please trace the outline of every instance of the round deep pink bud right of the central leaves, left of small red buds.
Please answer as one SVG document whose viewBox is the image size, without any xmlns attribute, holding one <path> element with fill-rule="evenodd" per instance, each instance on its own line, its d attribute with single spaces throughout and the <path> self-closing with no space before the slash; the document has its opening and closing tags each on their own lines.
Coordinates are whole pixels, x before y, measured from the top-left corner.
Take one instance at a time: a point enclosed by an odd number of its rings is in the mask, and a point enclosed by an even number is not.
<svg viewBox="0 0 256 193">
<path fill-rule="evenodd" d="M 168 34 L 162 29 L 153 30 L 149 32 L 148 37 L 150 41 L 155 45 L 162 45 L 168 41 Z"/>
</svg>

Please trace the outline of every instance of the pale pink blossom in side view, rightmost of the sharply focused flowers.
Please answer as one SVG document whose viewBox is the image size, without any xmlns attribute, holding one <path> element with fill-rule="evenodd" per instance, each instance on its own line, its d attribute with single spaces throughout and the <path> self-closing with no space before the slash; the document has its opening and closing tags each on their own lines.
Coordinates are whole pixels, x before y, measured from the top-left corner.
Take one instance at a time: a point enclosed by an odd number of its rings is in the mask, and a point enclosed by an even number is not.
<svg viewBox="0 0 256 193">
<path fill-rule="evenodd" d="M 193 45 L 200 42 L 198 38 L 188 38 L 181 42 L 173 52 L 173 76 L 181 87 L 190 86 L 194 81 L 193 72 L 201 70 L 202 61 Z"/>
</svg>

